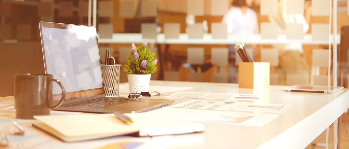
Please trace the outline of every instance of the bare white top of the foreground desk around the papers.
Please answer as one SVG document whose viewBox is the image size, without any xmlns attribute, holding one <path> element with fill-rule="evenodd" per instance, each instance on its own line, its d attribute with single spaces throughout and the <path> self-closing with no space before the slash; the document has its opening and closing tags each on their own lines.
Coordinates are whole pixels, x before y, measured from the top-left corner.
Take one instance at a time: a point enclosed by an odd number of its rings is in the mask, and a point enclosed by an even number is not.
<svg viewBox="0 0 349 149">
<path fill-rule="evenodd" d="M 349 108 L 348 89 L 325 94 L 286 92 L 282 90 L 285 86 L 274 85 L 265 90 L 238 88 L 238 84 L 230 83 L 150 81 L 150 85 L 192 86 L 193 89 L 184 90 L 191 92 L 260 94 L 264 96 L 265 103 L 293 105 L 280 117 L 262 127 L 205 124 L 206 130 L 203 133 L 173 135 L 168 140 L 172 142 L 168 148 L 174 149 L 305 148 Z M 2 97 L 0 100 L 13 100 L 13 97 Z M 189 99 L 174 100 L 174 104 L 178 104 Z"/>
</svg>

